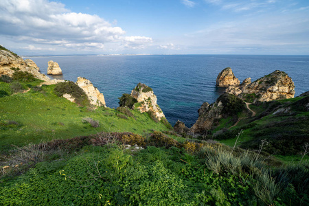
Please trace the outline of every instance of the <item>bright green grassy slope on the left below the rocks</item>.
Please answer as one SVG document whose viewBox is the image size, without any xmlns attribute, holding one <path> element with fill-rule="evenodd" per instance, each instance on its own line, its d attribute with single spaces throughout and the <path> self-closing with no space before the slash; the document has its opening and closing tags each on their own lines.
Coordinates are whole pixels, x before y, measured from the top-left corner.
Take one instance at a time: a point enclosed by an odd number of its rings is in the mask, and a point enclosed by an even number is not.
<svg viewBox="0 0 309 206">
<path fill-rule="evenodd" d="M 8 84 L 0 82 L 0 90 Z M 39 82 L 32 82 L 37 85 Z M 54 85 L 41 87 L 43 92 L 29 91 L 0 98 L 0 120 L 11 120 L 23 125 L 18 129 L 1 130 L 0 150 L 8 150 L 11 145 L 23 146 L 30 142 L 52 139 L 68 139 L 80 135 L 105 132 L 150 133 L 152 130 L 168 130 L 163 124 L 150 119 L 147 113 L 132 111 L 133 117 L 117 117 L 118 111 L 111 108 L 90 110 L 78 107 L 75 103 L 54 94 Z M 91 117 L 100 122 L 100 127 L 93 128 L 83 124 L 84 117 Z"/>
</svg>

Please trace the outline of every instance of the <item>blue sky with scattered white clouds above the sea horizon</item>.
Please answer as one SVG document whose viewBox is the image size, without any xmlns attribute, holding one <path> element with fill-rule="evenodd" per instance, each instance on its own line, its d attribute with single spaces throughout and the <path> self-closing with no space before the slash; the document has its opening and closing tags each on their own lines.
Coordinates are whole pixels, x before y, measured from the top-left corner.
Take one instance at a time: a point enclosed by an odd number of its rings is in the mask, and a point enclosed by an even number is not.
<svg viewBox="0 0 309 206">
<path fill-rule="evenodd" d="M 306 54 L 308 0 L 1 0 L 21 55 Z"/>
</svg>

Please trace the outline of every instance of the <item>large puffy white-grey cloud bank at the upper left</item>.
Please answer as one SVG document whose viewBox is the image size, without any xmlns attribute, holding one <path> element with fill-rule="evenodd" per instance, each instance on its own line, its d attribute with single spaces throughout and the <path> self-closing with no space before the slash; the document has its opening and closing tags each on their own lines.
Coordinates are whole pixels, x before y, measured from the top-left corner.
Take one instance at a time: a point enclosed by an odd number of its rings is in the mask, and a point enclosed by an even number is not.
<svg viewBox="0 0 309 206">
<path fill-rule="evenodd" d="M 1 0 L 0 25 L 0 35 L 45 47 L 103 49 L 106 43 L 123 43 L 141 48 L 152 41 L 146 36 L 125 36 L 121 27 L 100 16 L 70 12 L 64 4 L 47 0 Z"/>
</svg>

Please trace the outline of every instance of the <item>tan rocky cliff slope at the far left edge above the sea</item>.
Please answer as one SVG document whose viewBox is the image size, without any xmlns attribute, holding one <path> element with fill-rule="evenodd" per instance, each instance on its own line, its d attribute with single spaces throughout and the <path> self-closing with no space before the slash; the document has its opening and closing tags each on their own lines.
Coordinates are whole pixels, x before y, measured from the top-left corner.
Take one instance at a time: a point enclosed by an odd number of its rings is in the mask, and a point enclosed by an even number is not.
<svg viewBox="0 0 309 206">
<path fill-rule="evenodd" d="M 0 50 L 0 75 L 12 76 L 15 72 L 10 68 L 19 68 L 21 71 L 27 71 L 32 73 L 35 78 L 38 78 L 43 81 L 49 81 L 50 79 L 45 76 L 45 74 L 40 73 L 36 67 L 32 67 L 32 65 L 27 65 L 27 62 L 23 60 L 20 56 L 16 54 Z"/>
</svg>

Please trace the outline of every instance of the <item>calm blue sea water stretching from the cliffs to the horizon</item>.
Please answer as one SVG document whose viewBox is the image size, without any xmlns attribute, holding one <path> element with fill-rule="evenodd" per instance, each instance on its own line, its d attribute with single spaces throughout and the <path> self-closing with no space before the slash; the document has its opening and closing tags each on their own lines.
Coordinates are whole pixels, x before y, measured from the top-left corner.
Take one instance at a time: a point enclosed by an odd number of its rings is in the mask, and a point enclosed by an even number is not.
<svg viewBox="0 0 309 206">
<path fill-rule="evenodd" d="M 192 126 L 203 102 L 212 103 L 222 94 L 216 89 L 218 73 L 231 67 L 242 82 L 254 81 L 277 69 L 295 82 L 295 96 L 309 90 L 309 56 L 252 55 L 145 55 L 145 56 L 44 56 L 31 57 L 42 73 L 54 60 L 63 78 L 76 82 L 78 76 L 91 80 L 104 94 L 106 106 L 116 108 L 122 93 L 141 82 L 152 87 L 165 117 L 174 125 L 180 119 Z"/>
</svg>

